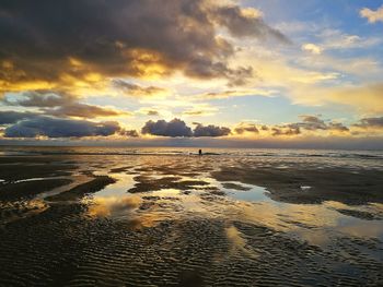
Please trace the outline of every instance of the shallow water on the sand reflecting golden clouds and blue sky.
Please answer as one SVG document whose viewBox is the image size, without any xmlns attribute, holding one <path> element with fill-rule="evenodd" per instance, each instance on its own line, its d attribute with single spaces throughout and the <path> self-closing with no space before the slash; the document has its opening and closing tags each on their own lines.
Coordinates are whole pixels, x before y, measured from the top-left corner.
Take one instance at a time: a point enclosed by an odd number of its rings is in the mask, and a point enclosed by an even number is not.
<svg viewBox="0 0 383 287">
<path fill-rule="evenodd" d="M 96 172 L 102 175 L 103 171 Z M 378 238 L 383 240 L 381 220 L 364 220 L 344 215 L 337 210 L 350 208 L 383 214 L 382 204 L 348 206 L 339 202 L 323 204 L 292 204 L 276 202 L 267 196 L 267 189 L 242 182 L 219 182 L 208 172 L 198 177 L 179 177 L 176 181 L 195 180 L 207 182 L 184 190 L 159 189 L 149 192 L 129 193 L 138 181 L 135 180 L 135 168 L 124 172 L 109 174 L 117 181 L 107 186 L 83 202 L 89 204 L 89 215 L 112 218 L 125 218 L 142 222 L 152 218 L 152 224 L 162 219 L 187 219 L 193 217 L 242 220 L 290 234 L 312 244 L 325 247 L 337 237 L 351 236 L 359 238 Z M 148 172 L 143 176 L 160 180 L 161 172 Z M 219 195 L 209 192 L 217 190 Z M 302 192 L 310 192 L 303 189 Z M 210 194 L 209 198 L 204 195 Z M 212 198 L 213 199 L 212 199 Z M 214 203 L 212 204 L 211 201 Z M 140 207 L 141 206 L 141 207 Z M 164 216 L 165 215 L 165 216 Z M 155 219 L 153 219 L 155 218 Z M 231 229 L 230 229 L 231 230 Z M 230 232 L 232 234 L 232 232 Z M 232 235 L 228 235 L 232 240 Z"/>
</svg>

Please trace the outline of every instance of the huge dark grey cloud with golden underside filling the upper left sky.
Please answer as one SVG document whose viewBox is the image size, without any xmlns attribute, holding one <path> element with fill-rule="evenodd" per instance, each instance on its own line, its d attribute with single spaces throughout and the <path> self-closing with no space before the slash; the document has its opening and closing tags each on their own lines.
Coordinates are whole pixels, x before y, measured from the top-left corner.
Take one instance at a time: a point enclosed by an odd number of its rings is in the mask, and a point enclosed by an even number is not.
<svg viewBox="0 0 383 287">
<path fill-rule="evenodd" d="M 229 68 L 234 47 L 218 37 L 288 41 L 260 17 L 235 5 L 208 0 L 3 0 L 0 4 L 0 79 L 59 82 L 97 72 L 142 76 L 152 64 L 161 74 L 227 77 L 242 84 L 247 67 Z M 71 59 L 74 59 L 71 61 Z"/>
</svg>

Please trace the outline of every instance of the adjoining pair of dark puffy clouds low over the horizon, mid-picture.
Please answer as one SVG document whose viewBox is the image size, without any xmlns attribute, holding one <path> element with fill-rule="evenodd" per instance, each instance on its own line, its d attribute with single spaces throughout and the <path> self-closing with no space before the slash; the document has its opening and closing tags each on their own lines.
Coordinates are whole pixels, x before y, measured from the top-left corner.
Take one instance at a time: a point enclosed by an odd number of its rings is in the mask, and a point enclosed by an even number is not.
<svg viewBox="0 0 383 287">
<path fill-rule="evenodd" d="M 196 122 L 197 127 L 192 131 L 189 127 L 183 120 L 173 119 L 171 121 L 158 120 L 148 121 L 141 129 L 142 134 L 153 134 L 162 136 L 184 136 L 184 137 L 201 137 L 201 136 L 223 136 L 230 133 L 229 128 L 217 127 L 217 125 L 204 125 Z"/>
</svg>

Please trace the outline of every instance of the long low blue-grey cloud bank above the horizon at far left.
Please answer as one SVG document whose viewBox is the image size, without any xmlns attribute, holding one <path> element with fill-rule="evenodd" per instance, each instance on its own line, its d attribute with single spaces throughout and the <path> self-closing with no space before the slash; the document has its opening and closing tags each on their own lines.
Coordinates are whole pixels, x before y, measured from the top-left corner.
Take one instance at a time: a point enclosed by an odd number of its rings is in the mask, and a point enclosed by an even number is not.
<svg viewBox="0 0 383 287">
<path fill-rule="evenodd" d="M 4 130 L 4 137 L 83 137 L 107 136 L 119 132 L 118 122 L 91 122 L 84 120 L 38 117 L 19 121 Z"/>
</svg>

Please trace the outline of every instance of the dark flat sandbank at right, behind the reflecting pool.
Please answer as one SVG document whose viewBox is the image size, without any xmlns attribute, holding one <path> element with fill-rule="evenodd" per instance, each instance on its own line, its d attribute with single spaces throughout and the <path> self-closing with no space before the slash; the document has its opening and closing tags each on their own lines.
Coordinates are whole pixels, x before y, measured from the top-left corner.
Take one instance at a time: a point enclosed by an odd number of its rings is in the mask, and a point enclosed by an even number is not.
<svg viewBox="0 0 383 287">
<path fill-rule="evenodd" d="M 240 181 L 266 188 L 270 198 L 289 203 L 338 201 L 350 205 L 383 203 L 383 171 L 339 168 L 288 169 L 223 167 L 212 175 L 219 181 Z"/>
</svg>

